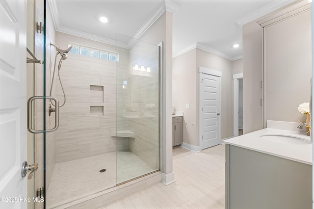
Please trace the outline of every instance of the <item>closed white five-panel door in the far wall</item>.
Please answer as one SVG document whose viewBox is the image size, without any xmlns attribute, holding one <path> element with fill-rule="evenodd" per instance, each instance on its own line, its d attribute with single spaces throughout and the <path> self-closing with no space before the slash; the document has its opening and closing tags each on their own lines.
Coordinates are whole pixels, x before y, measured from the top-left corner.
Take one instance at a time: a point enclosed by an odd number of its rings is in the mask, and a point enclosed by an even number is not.
<svg viewBox="0 0 314 209">
<path fill-rule="evenodd" d="M 200 144 L 202 149 L 220 143 L 220 78 L 200 73 Z"/>
</svg>

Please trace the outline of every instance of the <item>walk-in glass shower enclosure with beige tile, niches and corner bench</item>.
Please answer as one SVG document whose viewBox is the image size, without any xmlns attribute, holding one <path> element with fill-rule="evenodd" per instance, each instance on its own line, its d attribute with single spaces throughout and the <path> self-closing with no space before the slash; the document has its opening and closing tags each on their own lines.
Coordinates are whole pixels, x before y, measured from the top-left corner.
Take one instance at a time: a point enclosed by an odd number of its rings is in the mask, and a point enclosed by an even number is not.
<svg viewBox="0 0 314 209">
<path fill-rule="evenodd" d="M 53 44 L 72 45 L 61 40 Z M 66 95 L 59 128 L 44 139 L 45 204 L 51 209 L 160 170 L 161 47 L 118 34 L 116 50 L 110 51 L 115 58 L 110 59 L 102 56 L 106 45 L 79 40 L 57 72 Z M 55 50 L 46 49 L 46 54 L 49 92 Z M 60 82 L 53 82 L 52 96 L 63 104 Z M 48 111 L 49 101 L 45 105 Z"/>
</svg>

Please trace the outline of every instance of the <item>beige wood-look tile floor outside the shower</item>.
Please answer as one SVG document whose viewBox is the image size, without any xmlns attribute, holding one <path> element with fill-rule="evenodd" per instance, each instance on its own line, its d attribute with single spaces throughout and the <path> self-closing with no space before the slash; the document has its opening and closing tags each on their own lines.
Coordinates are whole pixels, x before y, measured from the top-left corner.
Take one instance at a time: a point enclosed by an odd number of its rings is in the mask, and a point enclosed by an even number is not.
<svg viewBox="0 0 314 209">
<path fill-rule="evenodd" d="M 102 209 L 224 209 L 225 145 L 193 153 L 173 149 L 176 182 L 157 183 Z"/>
</svg>

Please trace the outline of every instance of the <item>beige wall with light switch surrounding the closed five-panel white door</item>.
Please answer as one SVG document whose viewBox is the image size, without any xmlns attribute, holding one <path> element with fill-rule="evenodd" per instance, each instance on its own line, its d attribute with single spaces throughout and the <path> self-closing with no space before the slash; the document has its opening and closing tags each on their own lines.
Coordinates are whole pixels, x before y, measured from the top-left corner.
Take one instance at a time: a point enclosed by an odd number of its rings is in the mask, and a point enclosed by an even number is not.
<svg viewBox="0 0 314 209">
<path fill-rule="evenodd" d="M 183 111 L 183 142 L 199 146 L 198 67 L 222 72 L 222 139 L 232 136 L 232 61 L 193 49 L 173 59 L 173 105 Z M 190 108 L 185 109 L 189 103 Z"/>
</svg>

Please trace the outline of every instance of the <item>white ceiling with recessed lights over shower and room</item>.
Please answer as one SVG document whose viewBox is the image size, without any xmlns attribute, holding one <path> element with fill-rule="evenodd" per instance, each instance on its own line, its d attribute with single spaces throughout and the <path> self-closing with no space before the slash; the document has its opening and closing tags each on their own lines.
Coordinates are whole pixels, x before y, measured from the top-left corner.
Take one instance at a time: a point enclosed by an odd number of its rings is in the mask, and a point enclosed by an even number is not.
<svg viewBox="0 0 314 209">
<path fill-rule="evenodd" d="M 49 0 L 57 31 L 116 44 L 138 38 L 167 8 L 173 11 L 173 55 L 200 46 L 230 60 L 242 55 L 242 28 L 293 0 Z M 170 5 L 170 7 L 169 7 Z M 99 22 L 99 17 L 108 23 Z M 237 22 L 237 23 L 236 23 Z M 235 43 L 239 48 L 233 48 Z M 128 43 L 120 43 L 128 47 Z"/>
</svg>

